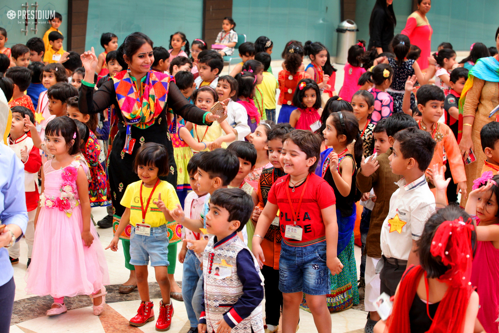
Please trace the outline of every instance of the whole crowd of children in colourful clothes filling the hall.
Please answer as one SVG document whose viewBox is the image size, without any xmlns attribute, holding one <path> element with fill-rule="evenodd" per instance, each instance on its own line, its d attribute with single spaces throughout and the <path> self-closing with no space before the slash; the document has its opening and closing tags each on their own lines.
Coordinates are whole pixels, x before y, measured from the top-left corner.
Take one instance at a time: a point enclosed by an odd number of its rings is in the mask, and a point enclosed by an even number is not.
<svg viewBox="0 0 499 333">
<path fill-rule="evenodd" d="M 465 164 L 474 160 L 463 158 L 457 141 L 459 100 L 473 66 L 490 56 L 484 44 L 472 45 L 458 64 L 443 43 L 422 71 L 421 50 L 406 35 L 395 35 L 393 52 L 382 54 L 359 40 L 333 96 L 335 69 L 321 42 L 290 40 L 274 75 L 272 40 L 260 36 L 236 50 L 232 17 L 224 18 L 213 49 L 181 31 L 170 36 L 169 49 L 134 33 L 154 57 L 144 60 L 142 85 L 133 76 L 135 46 L 118 48 L 118 37 L 106 32 L 104 52 L 80 56 L 63 50 L 62 16 L 50 22 L 43 38 L 11 48 L 0 28 L 8 145 L 24 165 L 26 291 L 53 298 L 47 316 L 65 313 L 64 297 L 76 295 L 90 296 L 95 315 L 104 311 L 109 275 L 91 209 L 107 207 L 96 225 L 109 228 L 120 205 L 106 249 L 117 251 L 122 239 L 131 273 L 120 293 L 138 288 L 141 299 L 132 326 L 155 319 L 151 261 L 162 297 L 157 331 L 171 326 L 173 298 L 185 303 L 190 333 L 273 333 L 279 323 L 282 332 L 296 332 L 300 309 L 312 314 L 317 332 L 331 332 L 329 313 L 361 301 L 366 333 L 498 332 L 499 125 L 481 128 L 487 159 L 473 188 Z M 237 52 L 242 62 L 222 75 L 224 56 Z M 125 114 L 128 97 L 118 97 L 124 84 L 143 98 L 171 83 L 205 120 L 190 120 L 189 111 L 161 116 L 166 97 L 144 102 L 152 103 L 152 118 L 139 99 Z M 117 96 L 110 106 L 87 100 L 110 87 Z M 173 150 L 131 138 L 137 117 L 143 129 L 164 118 Z M 126 139 L 117 134 L 123 126 Z M 126 140 L 121 160 L 127 156 L 140 179 L 121 182 L 118 198 L 111 183 L 119 175 L 108 168 L 115 137 Z M 468 198 L 466 210 L 459 196 Z M 19 245 L 8 252 L 11 264 L 19 263 Z M 173 279 L 176 260 L 182 289 Z M 392 298 L 388 318 L 377 312 L 382 294 Z"/>
</svg>

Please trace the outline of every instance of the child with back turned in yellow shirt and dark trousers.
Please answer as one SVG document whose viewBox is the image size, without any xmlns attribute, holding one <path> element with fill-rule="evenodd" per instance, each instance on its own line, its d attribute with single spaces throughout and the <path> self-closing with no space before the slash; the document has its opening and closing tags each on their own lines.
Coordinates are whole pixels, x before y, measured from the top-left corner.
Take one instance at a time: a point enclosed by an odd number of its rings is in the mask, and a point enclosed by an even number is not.
<svg viewBox="0 0 499 333">
<path fill-rule="evenodd" d="M 254 59 L 263 64 L 262 79 L 261 83 L 257 84 L 257 88 L 263 96 L 265 115 L 267 120 L 275 122 L 275 92 L 279 88 L 279 84 L 270 71 L 270 54 L 267 52 L 258 52 L 255 54 Z"/>
</svg>

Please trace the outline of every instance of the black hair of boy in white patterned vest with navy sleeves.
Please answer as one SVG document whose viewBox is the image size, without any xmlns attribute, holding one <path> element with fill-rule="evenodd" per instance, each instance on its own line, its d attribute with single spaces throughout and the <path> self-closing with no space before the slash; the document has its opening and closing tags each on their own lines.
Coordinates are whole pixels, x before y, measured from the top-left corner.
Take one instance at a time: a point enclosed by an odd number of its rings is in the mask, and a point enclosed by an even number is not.
<svg viewBox="0 0 499 333">
<path fill-rule="evenodd" d="M 216 190 L 210 197 L 210 205 L 226 209 L 229 212 L 227 222 L 239 221 L 241 225 L 236 230 L 237 232 L 243 230 L 254 209 L 251 196 L 239 188 Z"/>
</svg>

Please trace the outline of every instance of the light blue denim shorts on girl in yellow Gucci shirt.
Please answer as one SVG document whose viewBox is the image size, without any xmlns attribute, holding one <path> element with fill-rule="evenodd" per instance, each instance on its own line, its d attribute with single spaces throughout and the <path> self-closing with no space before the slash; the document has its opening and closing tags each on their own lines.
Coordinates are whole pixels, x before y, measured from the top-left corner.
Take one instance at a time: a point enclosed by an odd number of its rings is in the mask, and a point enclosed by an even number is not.
<svg viewBox="0 0 499 333">
<path fill-rule="evenodd" d="M 132 227 L 130 235 L 130 265 L 168 266 L 168 228 L 166 225 L 151 227 L 151 236 L 136 235 Z"/>
</svg>

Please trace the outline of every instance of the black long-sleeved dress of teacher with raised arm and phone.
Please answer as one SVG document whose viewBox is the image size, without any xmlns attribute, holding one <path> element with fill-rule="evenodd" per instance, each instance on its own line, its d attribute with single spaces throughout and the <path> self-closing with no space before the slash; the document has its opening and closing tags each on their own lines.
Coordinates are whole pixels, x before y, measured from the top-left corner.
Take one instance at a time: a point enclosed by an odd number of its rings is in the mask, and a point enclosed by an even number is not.
<svg viewBox="0 0 499 333">
<path fill-rule="evenodd" d="M 155 142 L 165 145 L 168 152 L 170 171 L 168 176 L 160 178 L 168 181 L 174 187 L 177 186 L 177 165 L 173 158 L 173 146 L 170 139 L 170 133 L 168 132 L 166 110 L 172 108 L 175 114 L 179 114 L 186 121 L 198 125 L 206 125 L 203 123 L 206 112 L 193 104 L 190 104 L 184 95 L 182 95 L 177 85 L 175 85 L 175 83 L 170 83 L 167 104 L 156 118 L 154 124 L 145 129 L 131 126 L 131 137 L 136 141 L 132 154 L 128 154 L 123 151 L 126 124 L 123 120 L 118 100 L 116 99 L 113 81 L 105 82 L 97 91 L 84 84 L 81 85 L 78 102 L 80 110 L 93 114 L 101 112 L 111 105 L 114 105 L 116 115 L 118 116 L 118 133 L 116 133 L 116 136 L 114 137 L 113 147 L 109 154 L 108 176 L 109 185 L 111 187 L 111 200 L 113 208 L 115 209 L 114 214 L 121 217 L 125 211 L 125 207 L 120 205 L 120 201 L 123 194 L 125 194 L 126 187 L 129 184 L 140 180 L 136 170 L 133 169 L 133 161 L 137 151 L 144 143 Z"/>
</svg>

